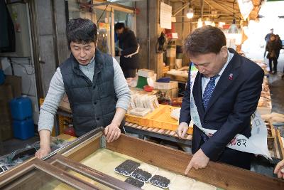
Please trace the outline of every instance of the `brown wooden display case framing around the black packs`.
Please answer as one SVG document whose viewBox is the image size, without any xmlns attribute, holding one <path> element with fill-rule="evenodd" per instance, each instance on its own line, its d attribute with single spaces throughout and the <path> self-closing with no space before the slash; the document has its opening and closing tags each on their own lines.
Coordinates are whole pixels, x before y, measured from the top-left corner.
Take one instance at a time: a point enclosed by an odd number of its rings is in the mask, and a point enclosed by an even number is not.
<svg viewBox="0 0 284 190">
<path fill-rule="evenodd" d="M 175 174 L 183 174 L 192 158 L 186 152 L 124 134 L 116 142 L 107 143 L 103 132 L 102 128 L 93 130 L 43 160 L 31 159 L 7 171 L 0 176 L 0 189 L 19 189 L 20 186 L 21 189 L 25 186 L 26 189 L 39 189 L 35 188 L 39 184 L 47 186 L 45 189 L 137 189 L 80 163 L 99 149 L 125 154 Z M 188 177 L 222 189 L 284 189 L 283 180 L 217 162 L 209 162 L 206 169 L 192 169 Z M 54 181 L 58 185 L 55 188 Z"/>
</svg>

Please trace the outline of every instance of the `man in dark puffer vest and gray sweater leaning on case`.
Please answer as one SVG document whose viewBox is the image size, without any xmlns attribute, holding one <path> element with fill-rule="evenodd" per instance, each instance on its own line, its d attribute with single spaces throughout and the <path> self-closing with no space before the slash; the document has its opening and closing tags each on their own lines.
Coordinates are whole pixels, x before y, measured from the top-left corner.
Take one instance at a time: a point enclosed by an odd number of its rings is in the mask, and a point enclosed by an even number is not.
<svg viewBox="0 0 284 190">
<path fill-rule="evenodd" d="M 72 53 L 53 75 L 40 107 L 40 149 L 35 153 L 38 158 L 50 152 L 53 117 L 64 93 L 78 137 L 96 127 L 105 127 L 107 142 L 118 139 L 129 106 L 130 90 L 119 63 L 96 48 L 97 26 L 88 19 L 71 19 L 66 31 Z"/>
</svg>

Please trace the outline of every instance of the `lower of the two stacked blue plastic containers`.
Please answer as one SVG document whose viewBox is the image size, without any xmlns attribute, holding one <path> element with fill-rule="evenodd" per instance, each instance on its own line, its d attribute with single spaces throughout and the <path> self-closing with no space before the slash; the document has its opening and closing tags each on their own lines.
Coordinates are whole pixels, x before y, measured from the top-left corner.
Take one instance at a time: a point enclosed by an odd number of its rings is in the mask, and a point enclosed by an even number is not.
<svg viewBox="0 0 284 190">
<path fill-rule="evenodd" d="M 28 139 L 35 136 L 33 120 L 13 120 L 13 137 L 18 139 Z"/>
</svg>

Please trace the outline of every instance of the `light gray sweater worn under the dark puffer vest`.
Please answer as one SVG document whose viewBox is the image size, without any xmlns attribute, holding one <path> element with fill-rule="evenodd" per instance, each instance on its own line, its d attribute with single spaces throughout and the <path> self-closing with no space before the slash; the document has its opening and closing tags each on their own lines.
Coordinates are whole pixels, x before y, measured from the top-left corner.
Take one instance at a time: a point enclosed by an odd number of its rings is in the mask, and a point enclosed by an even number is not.
<svg viewBox="0 0 284 190">
<path fill-rule="evenodd" d="M 122 73 L 119 63 L 113 58 L 114 62 L 114 90 L 117 97 L 116 108 L 121 107 L 127 110 L 131 98 L 129 86 L 127 85 L 124 73 Z M 88 65 L 79 65 L 80 70 L 92 81 L 94 75 L 95 60 L 92 58 Z M 40 117 L 38 120 L 38 131 L 53 130 L 54 115 L 65 94 L 64 83 L 60 68 L 57 68 L 53 78 L 50 81 L 48 94 L 45 97 L 43 105 L 40 107 Z"/>
</svg>

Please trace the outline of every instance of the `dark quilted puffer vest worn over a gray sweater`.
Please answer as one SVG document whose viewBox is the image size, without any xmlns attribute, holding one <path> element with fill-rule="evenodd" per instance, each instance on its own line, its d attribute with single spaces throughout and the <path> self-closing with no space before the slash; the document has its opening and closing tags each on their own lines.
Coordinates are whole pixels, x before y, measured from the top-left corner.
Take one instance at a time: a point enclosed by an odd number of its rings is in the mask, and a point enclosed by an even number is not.
<svg viewBox="0 0 284 190">
<path fill-rule="evenodd" d="M 117 100 L 111 56 L 96 49 L 93 81 L 82 73 L 73 55 L 60 65 L 60 70 L 76 135 L 109 125 L 114 118 Z"/>
</svg>

